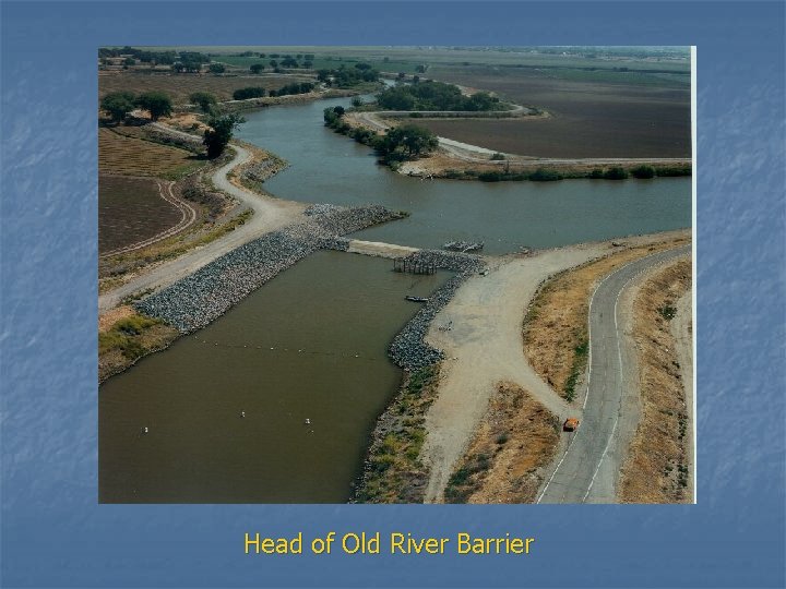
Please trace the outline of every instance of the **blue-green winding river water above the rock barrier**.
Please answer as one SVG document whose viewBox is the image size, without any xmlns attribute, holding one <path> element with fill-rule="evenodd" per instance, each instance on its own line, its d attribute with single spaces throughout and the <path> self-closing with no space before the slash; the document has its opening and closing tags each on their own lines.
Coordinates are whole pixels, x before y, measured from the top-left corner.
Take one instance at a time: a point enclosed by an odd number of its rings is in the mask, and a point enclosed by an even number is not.
<svg viewBox="0 0 786 589">
<path fill-rule="evenodd" d="M 322 125 L 326 107 L 348 98 L 245 113 L 238 136 L 290 167 L 266 182 L 282 199 L 343 205 L 380 203 L 412 213 L 358 237 L 439 248 L 485 241 L 485 253 L 553 248 L 690 227 L 691 179 L 561 182 L 420 181 L 376 164 L 371 149 Z"/>
</svg>

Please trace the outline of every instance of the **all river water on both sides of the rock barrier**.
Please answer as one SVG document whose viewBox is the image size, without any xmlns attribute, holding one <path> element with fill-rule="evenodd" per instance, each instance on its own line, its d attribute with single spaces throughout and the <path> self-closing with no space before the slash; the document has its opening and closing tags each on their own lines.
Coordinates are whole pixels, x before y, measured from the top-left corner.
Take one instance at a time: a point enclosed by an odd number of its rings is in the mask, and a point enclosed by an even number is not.
<svg viewBox="0 0 786 589">
<path fill-rule="evenodd" d="M 401 177 L 322 127 L 322 110 L 338 104 L 349 100 L 247 113 L 238 136 L 291 164 L 266 183 L 281 197 L 412 213 L 359 238 L 420 247 L 478 239 L 496 254 L 690 226 L 689 178 L 487 184 Z M 401 275 L 388 260 L 318 252 L 110 378 L 99 392 L 100 501 L 345 502 L 401 380 L 386 348 L 418 309 L 404 296 L 428 296 L 446 276 Z"/>
</svg>

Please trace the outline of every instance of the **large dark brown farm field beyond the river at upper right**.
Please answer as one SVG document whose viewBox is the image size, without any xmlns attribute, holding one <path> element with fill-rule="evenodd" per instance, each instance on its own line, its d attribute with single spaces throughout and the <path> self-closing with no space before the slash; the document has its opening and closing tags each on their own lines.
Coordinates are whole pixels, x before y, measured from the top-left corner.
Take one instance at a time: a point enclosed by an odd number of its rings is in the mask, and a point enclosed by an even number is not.
<svg viewBox="0 0 786 589">
<path fill-rule="evenodd" d="M 437 134 L 536 157 L 690 157 L 690 87 L 561 80 L 516 68 L 429 70 L 436 80 L 493 91 L 547 110 L 532 120 L 424 120 Z"/>
</svg>

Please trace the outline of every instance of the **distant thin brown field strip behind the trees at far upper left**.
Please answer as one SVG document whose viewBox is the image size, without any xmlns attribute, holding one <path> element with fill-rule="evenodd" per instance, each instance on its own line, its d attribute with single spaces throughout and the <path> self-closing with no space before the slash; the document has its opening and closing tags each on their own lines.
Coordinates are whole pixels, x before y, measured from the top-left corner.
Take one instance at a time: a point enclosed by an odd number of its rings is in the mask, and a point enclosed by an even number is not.
<svg viewBox="0 0 786 589">
<path fill-rule="evenodd" d="M 278 89 L 300 79 L 310 81 L 313 76 L 107 73 L 98 76 L 98 95 L 104 96 L 110 92 L 120 91 L 134 93 L 162 91 L 169 94 L 175 104 L 186 104 L 192 93 L 209 92 L 218 100 L 231 100 L 236 89 L 248 86 Z"/>
</svg>

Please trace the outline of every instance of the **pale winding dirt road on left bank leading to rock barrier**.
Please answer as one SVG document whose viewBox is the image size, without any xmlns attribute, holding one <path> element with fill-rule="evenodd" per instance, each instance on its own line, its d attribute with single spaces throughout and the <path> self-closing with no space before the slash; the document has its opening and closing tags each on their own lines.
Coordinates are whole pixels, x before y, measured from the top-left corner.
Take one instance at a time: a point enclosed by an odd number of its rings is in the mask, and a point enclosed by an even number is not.
<svg viewBox="0 0 786 589">
<path fill-rule="evenodd" d="M 169 128 L 159 125 L 167 132 L 174 134 L 183 134 Z M 192 137 L 191 135 L 188 135 Z M 242 205 L 253 211 L 253 216 L 240 225 L 234 231 L 226 236 L 195 248 L 188 253 L 175 259 L 166 261 L 147 272 L 135 276 L 124 285 L 110 290 L 98 297 L 98 313 L 104 313 L 109 309 L 117 306 L 123 298 L 151 288 L 160 288 L 168 286 L 184 276 L 198 271 L 205 264 L 212 262 L 216 257 L 239 248 L 243 243 L 251 241 L 264 233 L 274 231 L 287 225 L 290 225 L 302 217 L 306 205 L 290 201 L 279 201 L 270 196 L 263 196 L 246 189 L 241 189 L 233 184 L 227 179 L 227 173 L 237 166 L 241 166 L 251 158 L 251 154 L 238 146 L 233 145 L 235 158 L 227 165 L 223 166 L 212 177 L 213 183 L 219 190 L 230 194 L 237 199 Z"/>
</svg>

